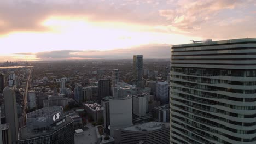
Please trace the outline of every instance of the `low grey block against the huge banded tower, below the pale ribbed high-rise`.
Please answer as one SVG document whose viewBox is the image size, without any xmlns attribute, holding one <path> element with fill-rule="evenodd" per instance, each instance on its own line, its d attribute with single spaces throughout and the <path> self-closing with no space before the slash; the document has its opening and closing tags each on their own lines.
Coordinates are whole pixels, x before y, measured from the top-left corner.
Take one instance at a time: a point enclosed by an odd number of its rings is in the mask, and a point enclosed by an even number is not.
<svg viewBox="0 0 256 144">
<path fill-rule="evenodd" d="M 153 117 L 158 122 L 170 122 L 170 104 L 154 107 Z"/>
</svg>

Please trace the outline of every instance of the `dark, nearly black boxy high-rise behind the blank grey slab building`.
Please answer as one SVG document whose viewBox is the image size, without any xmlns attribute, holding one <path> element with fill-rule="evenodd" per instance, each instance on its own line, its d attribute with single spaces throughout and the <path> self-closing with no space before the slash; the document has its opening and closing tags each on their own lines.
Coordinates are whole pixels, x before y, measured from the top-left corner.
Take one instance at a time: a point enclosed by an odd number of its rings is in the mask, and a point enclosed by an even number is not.
<svg viewBox="0 0 256 144">
<path fill-rule="evenodd" d="M 98 102 L 101 102 L 101 98 L 112 96 L 111 94 L 111 80 L 99 80 L 98 81 Z"/>
</svg>

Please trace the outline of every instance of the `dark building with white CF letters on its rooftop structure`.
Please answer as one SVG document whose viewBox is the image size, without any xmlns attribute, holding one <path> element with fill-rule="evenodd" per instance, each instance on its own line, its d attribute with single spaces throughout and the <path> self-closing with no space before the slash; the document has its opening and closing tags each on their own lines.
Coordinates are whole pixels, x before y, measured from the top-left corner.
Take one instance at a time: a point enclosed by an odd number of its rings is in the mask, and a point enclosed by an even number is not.
<svg viewBox="0 0 256 144">
<path fill-rule="evenodd" d="M 27 125 L 19 129 L 18 141 L 19 144 L 74 144 L 73 119 L 64 115 L 61 106 L 27 113 Z"/>
</svg>

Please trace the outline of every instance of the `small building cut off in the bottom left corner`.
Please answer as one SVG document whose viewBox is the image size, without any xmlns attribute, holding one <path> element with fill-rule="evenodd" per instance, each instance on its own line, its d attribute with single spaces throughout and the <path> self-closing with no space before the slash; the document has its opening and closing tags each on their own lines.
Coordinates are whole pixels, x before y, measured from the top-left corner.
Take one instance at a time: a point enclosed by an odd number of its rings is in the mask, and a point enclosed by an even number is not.
<svg viewBox="0 0 256 144">
<path fill-rule="evenodd" d="M 1 124 L 1 142 L 3 144 L 11 144 L 11 132 L 10 132 L 10 129 L 9 129 L 9 124 L 8 123 L 5 123 L 5 124 Z"/>
</svg>

